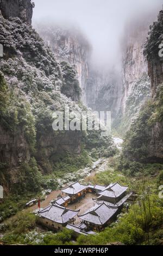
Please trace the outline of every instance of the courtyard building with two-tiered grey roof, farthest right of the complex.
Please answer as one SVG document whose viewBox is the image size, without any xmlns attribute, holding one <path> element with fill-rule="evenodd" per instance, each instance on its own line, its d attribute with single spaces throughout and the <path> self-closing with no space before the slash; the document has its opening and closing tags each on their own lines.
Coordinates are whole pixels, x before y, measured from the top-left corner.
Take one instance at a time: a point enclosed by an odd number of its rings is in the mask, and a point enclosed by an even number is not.
<svg viewBox="0 0 163 256">
<path fill-rule="evenodd" d="M 104 190 L 98 192 L 99 197 L 93 199 L 97 204 L 105 203 L 111 207 L 123 206 L 123 204 L 131 197 L 132 192 L 127 192 L 128 187 L 121 186 L 118 182 L 115 184 L 110 184 L 105 187 Z"/>
</svg>

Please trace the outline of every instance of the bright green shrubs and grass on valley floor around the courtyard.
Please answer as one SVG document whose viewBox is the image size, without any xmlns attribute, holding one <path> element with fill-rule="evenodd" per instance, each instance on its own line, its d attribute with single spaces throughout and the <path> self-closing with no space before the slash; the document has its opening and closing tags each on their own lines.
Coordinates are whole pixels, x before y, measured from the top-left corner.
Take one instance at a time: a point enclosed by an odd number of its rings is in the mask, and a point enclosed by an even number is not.
<svg viewBox="0 0 163 256">
<path fill-rule="evenodd" d="M 1 225 L 1 229 L 6 230 L 3 239 L 12 243 L 32 245 L 106 245 L 114 242 L 126 245 L 162 245 L 163 203 L 158 195 L 158 187 L 163 181 L 163 166 L 161 164 L 158 166 L 144 164 L 143 173 L 142 168 L 138 169 L 139 178 L 131 178 L 131 175 L 122 174 L 118 170 L 117 161 L 117 159 L 111 158 L 108 170 L 96 174 L 92 182 L 105 185 L 111 181 L 118 181 L 124 185 L 128 184 L 129 189 L 137 193 L 137 198 L 134 204 L 130 205 L 129 211 L 124 206 L 117 221 L 102 233 L 89 236 L 80 235 L 74 241 L 73 231 L 70 230 L 65 229 L 57 234 L 40 231 L 37 228 L 35 216 L 32 217 L 31 214 L 26 213 L 16 215 L 14 222 L 11 220 Z M 149 169 L 152 170 L 152 175 L 155 178 L 148 175 Z M 131 171 L 128 170 L 128 173 Z M 89 180 L 89 178 L 87 179 Z"/>
</svg>

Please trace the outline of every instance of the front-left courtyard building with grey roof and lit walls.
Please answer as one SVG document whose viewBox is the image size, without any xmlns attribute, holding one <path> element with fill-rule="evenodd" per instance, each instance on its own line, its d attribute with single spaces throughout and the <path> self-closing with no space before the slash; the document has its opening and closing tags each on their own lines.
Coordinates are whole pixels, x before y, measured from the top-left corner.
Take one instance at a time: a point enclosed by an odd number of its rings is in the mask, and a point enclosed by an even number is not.
<svg viewBox="0 0 163 256">
<path fill-rule="evenodd" d="M 74 222 L 74 217 L 78 211 L 64 208 L 58 204 L 49 205 L 47 208 L 38 212 L 39 222 L 52 230 L 62 230 L 68 223 Z"/>
</svg>

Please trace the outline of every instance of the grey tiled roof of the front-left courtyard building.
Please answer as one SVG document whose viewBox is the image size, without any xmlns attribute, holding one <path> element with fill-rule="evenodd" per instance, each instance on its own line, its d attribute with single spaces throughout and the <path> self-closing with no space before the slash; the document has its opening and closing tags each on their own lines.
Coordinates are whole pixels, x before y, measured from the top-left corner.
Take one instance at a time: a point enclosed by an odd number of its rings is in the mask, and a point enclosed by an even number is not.
<svg viewBox="0 0 163 256">
<path fill-rule="evenodd" d="M 47 218 L 48 220 L 57 223 L 67 223 L 73 217 L 75 217 L 79 211 L 73 211 L 64 208 L 58 204 L 49 205 L 47 208 L 39 211 L 39 216 Z"/>
</svg>

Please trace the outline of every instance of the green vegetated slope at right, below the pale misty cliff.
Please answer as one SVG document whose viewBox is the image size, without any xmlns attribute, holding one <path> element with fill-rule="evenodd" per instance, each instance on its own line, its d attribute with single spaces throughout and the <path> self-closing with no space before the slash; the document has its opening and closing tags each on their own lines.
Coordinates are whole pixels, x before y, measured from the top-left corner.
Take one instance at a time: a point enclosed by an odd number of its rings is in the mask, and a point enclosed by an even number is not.
<svg viewBox="0 0 163 256">
<path fill-rule="evenodd" d="M 138 117 L 126 133 L 123 144 L 123 157 L 129 161 L 148 161 L 148 143 L 152 127 L 163 121 L 163 87 L 158 87 L 154 101 L 149 100 L 142 106 Z"/>
</svg>

